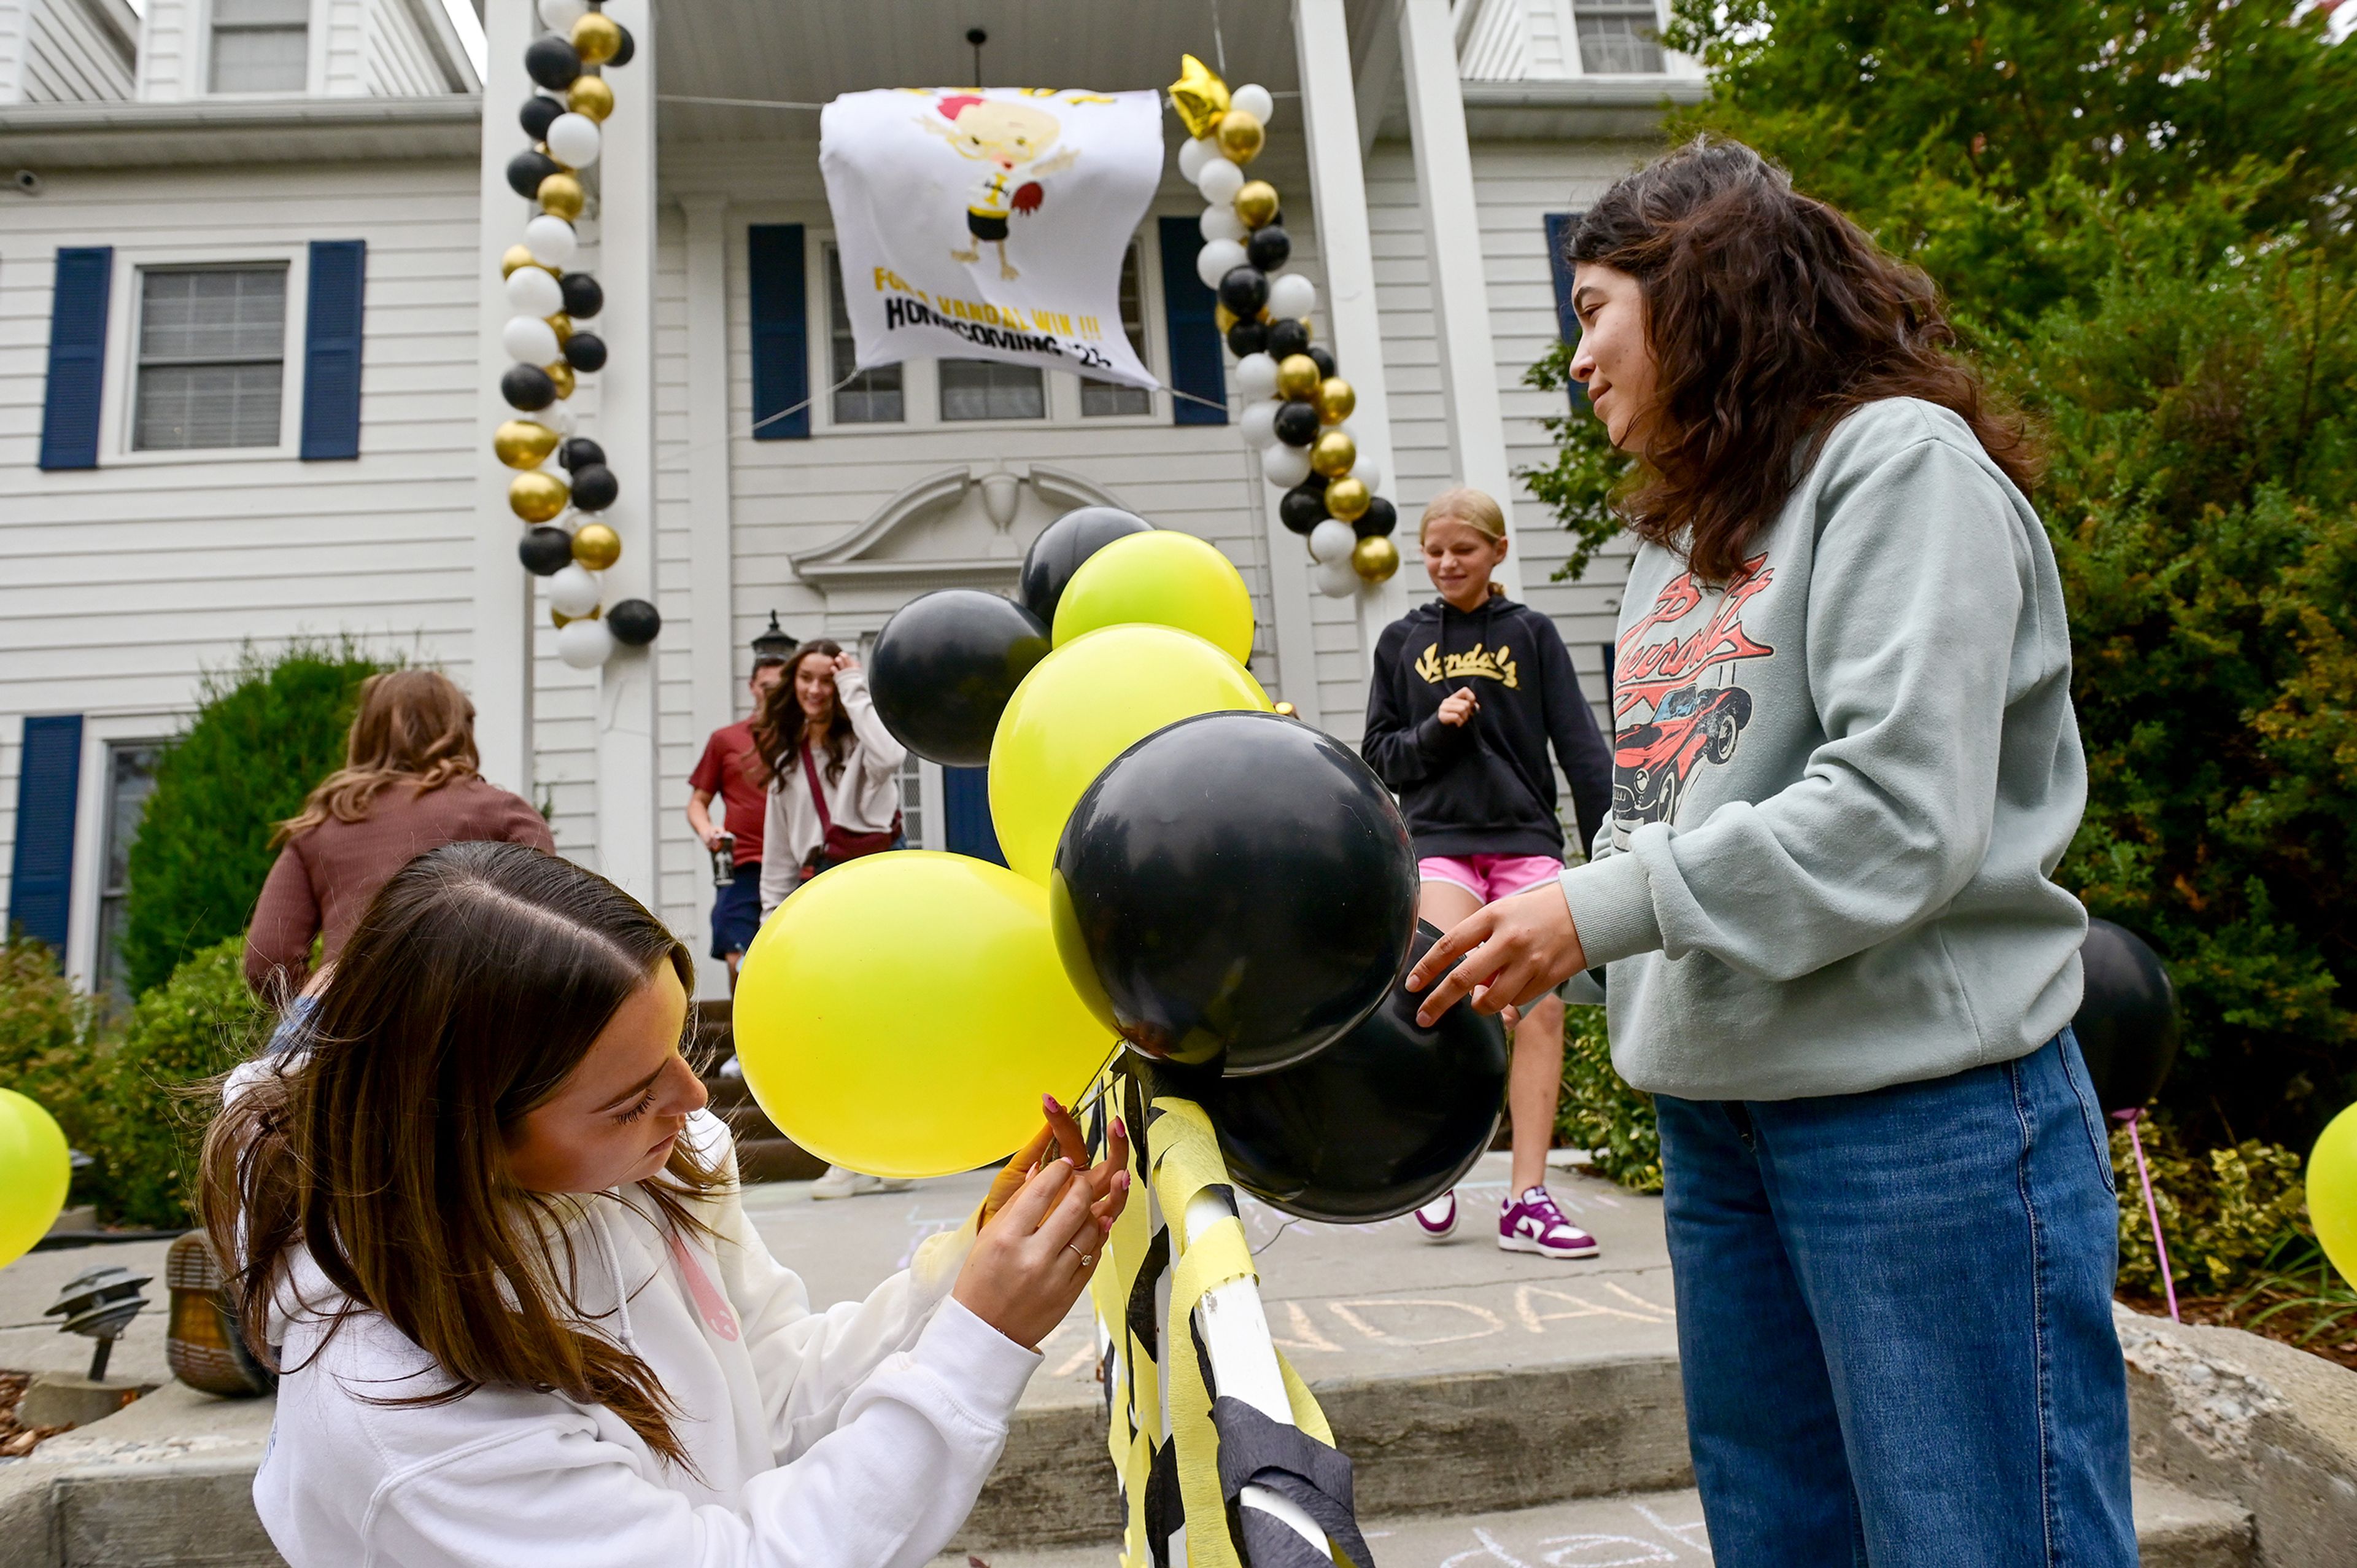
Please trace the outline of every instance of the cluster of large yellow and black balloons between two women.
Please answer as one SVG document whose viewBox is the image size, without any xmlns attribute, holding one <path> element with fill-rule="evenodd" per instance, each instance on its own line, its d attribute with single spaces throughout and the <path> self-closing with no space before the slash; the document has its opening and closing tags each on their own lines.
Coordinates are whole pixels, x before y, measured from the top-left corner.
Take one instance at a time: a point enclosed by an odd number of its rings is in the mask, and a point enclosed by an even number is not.
<svg viewBox="0 0 2357 1568">
<path fill-rule="evenodd" d="M 1235 566 L 1113 507 L 1042 531 L 1021 604 L 940 589 L 884 625 L 877 717 L 919 757 L 988 764 L 1006 868 L 867 856 L 761 929 L 738 1056 L 787 1137 L 872 1174 L 971 1170 L 1122 1040 L 1287 1212 L 1386 1219 L 1464 1174 L 1504 1033 L 1468 1004 L 1417 1028 L 1407 825 L 1249 653 Z"/>
</svg>

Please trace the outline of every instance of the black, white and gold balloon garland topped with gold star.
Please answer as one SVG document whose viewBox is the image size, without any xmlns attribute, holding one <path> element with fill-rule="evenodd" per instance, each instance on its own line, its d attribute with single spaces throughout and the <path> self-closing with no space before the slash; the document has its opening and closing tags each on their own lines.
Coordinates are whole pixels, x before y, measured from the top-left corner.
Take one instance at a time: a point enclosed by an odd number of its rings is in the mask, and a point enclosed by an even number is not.
<svg viewBox="0 0 2357 1568">
<path fill-rule="evenodd" d="M 1261 472 L 1285 490 L 1277 519 L 1308 540 L 1310 580 L 1341 599 L 1360 582 L 1384 582 L 1400 571 L 1391 542 L 1400 512 L 1376 495 L 1384 483 L 1362 457 L 1346 420 L 1358 391 L 1336 375 L 1334 354 L 1310 342 L 1318 285 L 1296 271 L 1277 189 L 1247 179 L 1261 153 L 1275 99 L 1266 87 L 1228 92 L 1193 54 L 1171 83 L 1171 106 L 1186 123 L 1178 172 L 1211 203 L 1202 215 L 1204 245 L 1195 271 L 1219 295 L 1219 330 L 1235 356 L 1244 394 L 1242 431 L 1261 453 Z"/>
</svg>

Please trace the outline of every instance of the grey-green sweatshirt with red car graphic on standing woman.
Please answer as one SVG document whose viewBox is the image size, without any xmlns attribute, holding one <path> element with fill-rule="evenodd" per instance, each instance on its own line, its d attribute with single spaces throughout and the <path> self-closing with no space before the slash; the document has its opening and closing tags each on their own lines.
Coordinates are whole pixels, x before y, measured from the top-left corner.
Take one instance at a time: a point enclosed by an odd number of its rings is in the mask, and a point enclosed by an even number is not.
<svg viewBox="0 0 2357 1568">
<path fill-rule="evenodd" d="M 2079 1009 L 2086 755 L 2046 528 L 1970 427 L 1850 413 L 1730 582 L 1629 564 L 1612 828 L 1563 898 L 1612 1066 L 1685 1099 L 2013 1061 Z"/>
</svg>

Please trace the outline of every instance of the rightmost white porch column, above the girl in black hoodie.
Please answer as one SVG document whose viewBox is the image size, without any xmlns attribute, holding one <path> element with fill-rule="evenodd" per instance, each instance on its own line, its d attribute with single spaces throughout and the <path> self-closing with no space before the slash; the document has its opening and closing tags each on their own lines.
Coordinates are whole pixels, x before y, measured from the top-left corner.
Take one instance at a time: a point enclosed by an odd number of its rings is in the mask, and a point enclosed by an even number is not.
<svg viewBox="0 0 2357 1568">
<path fill-rule="evenodd" d="M 1433 347 L 1440 354 L 1450 457 L 1457 483 L 1497 498 L 1506 512 L 1506 533 L 1513 535 L 1513 467 L 1506 462 L 1506 420 L 1497 401 L 1497 349 L 1490 337 L 1490 292 L 1480 264 L 1473 149 L 1466 144 L 1457 31 L 1450 24 L 1447 0 L 1400 5 L 1400 64 L 1407 75 L 1407 130 L 1417 144 L 1417 196 L 1424 205 Z M 1497 575 L 1508 594 L 1523 597 L 1520 554 L 1508 554 Z"/>
</svg>

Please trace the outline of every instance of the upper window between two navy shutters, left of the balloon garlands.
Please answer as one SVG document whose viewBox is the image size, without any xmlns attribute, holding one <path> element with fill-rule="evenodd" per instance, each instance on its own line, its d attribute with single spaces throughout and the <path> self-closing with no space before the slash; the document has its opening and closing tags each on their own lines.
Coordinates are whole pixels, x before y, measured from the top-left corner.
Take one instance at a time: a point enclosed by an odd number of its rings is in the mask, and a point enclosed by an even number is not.
<svg viewBox="0 0 2357 1568">
<path fill-rule="evenodd" d="M 285 340 L 285 262 L 141 269 L 132 450 L 278 446 Z"/>
</svg>

